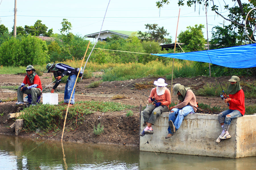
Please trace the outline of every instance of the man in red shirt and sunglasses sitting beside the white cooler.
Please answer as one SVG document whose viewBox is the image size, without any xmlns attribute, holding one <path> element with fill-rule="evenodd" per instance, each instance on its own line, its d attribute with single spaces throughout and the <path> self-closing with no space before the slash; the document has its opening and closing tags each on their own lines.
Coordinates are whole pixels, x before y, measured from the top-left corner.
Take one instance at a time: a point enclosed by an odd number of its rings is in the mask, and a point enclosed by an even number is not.
<svg viewBox="0 0 256 170">
<path fill-rule="evenodd" d="M 17 94 L 17 103 L 16 104 L 24 104 L 23 94 L 31 94 L 32 101 L 31 104 L 36 105 L 36 100 L 38 99 L 37 96 L 42 94 L 42 84 L 39 76 L 35 73 L 35 69 L 32 65 L 28 65 L 26 68 L 26 77 L 24 78 L 21 86 L 18 87 L 18 94 Z M 28 84 L 29 86 L 26 87 L 25 85 Z"/>
</svg>

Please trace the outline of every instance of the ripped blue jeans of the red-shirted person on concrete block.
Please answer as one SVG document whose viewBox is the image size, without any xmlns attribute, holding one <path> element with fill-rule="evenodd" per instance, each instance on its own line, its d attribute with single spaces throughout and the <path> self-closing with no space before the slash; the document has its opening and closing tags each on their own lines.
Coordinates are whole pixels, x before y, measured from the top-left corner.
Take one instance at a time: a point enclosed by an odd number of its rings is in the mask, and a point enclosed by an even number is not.
<svg viewBox="0 0 256 170">
<path fill-rule="evenodd" d="M 230 116 L 227 116 L 227 115 L 230 115 Z M 241 116 L 243 115 L 240 113 L 240 111 L 228 109 L 221 112 L 218 115 L 218 120 L 219 120 L 219 123 L 224 123 L 229 125 L 234 118 L 241 117 Z"/>
</svg>

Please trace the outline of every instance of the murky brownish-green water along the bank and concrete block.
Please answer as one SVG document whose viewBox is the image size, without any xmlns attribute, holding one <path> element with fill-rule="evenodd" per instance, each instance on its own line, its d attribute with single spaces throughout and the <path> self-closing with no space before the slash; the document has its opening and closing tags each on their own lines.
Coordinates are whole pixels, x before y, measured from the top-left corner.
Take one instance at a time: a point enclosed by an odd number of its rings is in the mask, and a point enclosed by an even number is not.
<svg viewBox="0 0 256 170">
<path fill-rule="evenodd" d="M 157 155 L 156 155 L 157 154 Z M 136 147 L 29 140 L 0 135 L 0 169 L 249 170 L 256 157 L 228 159 L 140 152 Z"/>
</svg>

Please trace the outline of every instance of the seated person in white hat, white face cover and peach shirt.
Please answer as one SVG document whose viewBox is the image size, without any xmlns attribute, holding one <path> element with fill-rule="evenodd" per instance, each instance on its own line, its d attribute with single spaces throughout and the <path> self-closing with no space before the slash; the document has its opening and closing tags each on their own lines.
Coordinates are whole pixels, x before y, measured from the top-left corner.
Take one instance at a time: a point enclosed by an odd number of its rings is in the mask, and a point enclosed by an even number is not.
<svg viewBox="0 0 256 170">
<path fill-rule="evenodd" d="M 151 90 L 148 98 L 148 102 L 153 102 L 153 104 L 143 111 L 143 119 L 147 127 L 140 133 L 140 136 L 144 136 L 145 134 L 152 135 L 154 133 L 151 126 L 154 125 L 156 117 L 168 111 L 169 105 L 171 104 L 171 93 L 166 88 L 167 84 L 164 79 L 159 78 L 157 81 L 154 81 L 154 85 L 156 87 Z"/>
</svg>

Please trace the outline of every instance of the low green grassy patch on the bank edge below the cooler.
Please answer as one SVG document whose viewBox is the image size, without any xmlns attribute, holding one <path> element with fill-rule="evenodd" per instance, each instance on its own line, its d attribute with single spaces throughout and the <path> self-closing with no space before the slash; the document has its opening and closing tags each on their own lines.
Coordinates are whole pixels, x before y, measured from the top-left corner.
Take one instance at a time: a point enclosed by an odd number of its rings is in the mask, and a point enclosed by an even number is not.
<svg viewBox="0 0 256 170">
<path fill-rule="evenodd" d="M 66 130 L 76 130 L 85 119 L 84 115 L 95 112 L 122 111 L 135 106 L 115 102 L 80 101 L 69 107 Z M 41 136 L 55 135 L 63 126 L 67 106 L 38 104 L 25 108 L 18 119 L 24 119 L 24 131 L 35 132 Z M 39 133 L 40 131 L 40 133 Z"/>
</svg>

